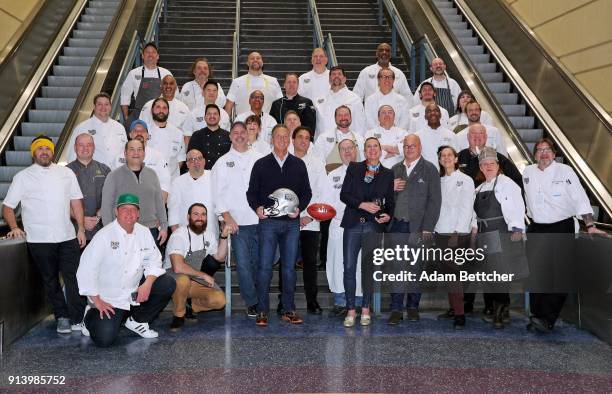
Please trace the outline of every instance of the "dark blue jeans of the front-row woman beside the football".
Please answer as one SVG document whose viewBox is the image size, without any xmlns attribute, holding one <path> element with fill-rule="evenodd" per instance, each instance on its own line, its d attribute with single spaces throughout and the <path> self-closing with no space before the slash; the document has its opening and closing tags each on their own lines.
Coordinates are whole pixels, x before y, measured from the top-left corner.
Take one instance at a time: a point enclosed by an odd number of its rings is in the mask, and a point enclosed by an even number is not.
<svg viewBox="0 0 612 394">
<path fill-rule="evenodd" d="M 357 289 L 357 256 L 361 250 L 361 242 L 367 234 L 376 233 L 375 223 L 360 223 L 351 228 L 345 228 L 342 238 L 344 252 L 344 293 L 346 295 L 346 308 L 355 309 L 355 291 Z M 362 271 L 364 265 L 361 265 Z M 363 288 L 363 308 L 370 307 L 372 289 Z"/>
</svg>

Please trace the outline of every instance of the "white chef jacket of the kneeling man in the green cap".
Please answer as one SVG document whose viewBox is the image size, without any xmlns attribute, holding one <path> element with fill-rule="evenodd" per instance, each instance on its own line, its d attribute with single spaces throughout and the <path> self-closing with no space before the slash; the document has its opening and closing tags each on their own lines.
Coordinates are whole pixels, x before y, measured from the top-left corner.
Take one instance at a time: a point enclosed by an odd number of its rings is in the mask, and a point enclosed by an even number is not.
<svg viewBox="0 0 612 394">
<path fill-rule="evenodd" d="M 79 293 L 130 310 L 130 305 L 138 305 L 131 294 L 143 274 L 159 277 L 166 272 L 161 257 L 148 228 L 135 223 L 128 234 L 115 219 L 94 235 L 81 255 L 76 274 Z"/>
</svg>

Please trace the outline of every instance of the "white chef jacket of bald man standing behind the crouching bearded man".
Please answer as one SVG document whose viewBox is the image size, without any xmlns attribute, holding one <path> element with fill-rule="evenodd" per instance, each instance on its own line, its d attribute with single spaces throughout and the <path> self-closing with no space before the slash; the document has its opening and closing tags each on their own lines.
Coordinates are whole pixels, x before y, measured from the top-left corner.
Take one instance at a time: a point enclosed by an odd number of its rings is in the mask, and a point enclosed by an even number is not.
<svg viewBox="0 0 612 394">
<path fill-rule="evenodd" d="M 219 223 L 215 215 L 212 184 L 212 175 L 208 170 L 204 170 L 204 175 L 198 179 L 193 179 L 189 172 L 175 178 L 168 195 L 168 226 L 176 224 L 186 226 L 189 224 L 187 211 L 193 203 L 199 202 L 206 206 L 206 231 L 211 231 L 217 235 L 219 233 Z"/>
</svg>

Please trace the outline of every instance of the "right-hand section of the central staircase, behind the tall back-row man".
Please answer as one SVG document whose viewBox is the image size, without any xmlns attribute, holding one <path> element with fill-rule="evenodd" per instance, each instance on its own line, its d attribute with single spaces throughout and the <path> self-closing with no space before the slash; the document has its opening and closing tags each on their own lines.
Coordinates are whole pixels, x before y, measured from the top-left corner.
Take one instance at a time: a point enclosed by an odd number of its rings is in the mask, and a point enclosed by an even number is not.
<svg viewBox="0 0 612 394">
<path fill-rule="evenodd" d="M 377 0 L 317 0 L 317 10 L 323 34 L 332 34 L 338 65 L 347 74 L 347 86 L 352 89 L 359 72 L 376 63 L 376 47 L 391 44 L 391 28 L 383 18 L 378 24 Z M 409 67 L 401 57 L 392 58 L 391 64 L 404 71 L 409 81 Z"/>
</svg>

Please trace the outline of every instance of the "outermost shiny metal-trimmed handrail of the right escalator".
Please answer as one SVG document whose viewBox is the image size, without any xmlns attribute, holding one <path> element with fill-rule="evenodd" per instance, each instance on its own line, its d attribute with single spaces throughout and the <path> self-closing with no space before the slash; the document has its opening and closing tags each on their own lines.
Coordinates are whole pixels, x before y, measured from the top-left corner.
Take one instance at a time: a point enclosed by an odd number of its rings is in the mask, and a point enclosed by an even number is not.
<svg viewBox="0 0 612 394">
<path fill-rule="evenodd" d="M 487 47 L 491 56 L 495 58 L 497 63 L 504 70 L 504 73 L 518 89 L 527 105 L 533 111 L 535 117 L 538 118 L 544 128 L 552 136 L 552 139 L 563 153 L 563 156 L 571 163 L 572 167 L 580 175 L 580 178 L 595 196 L 601 207 L 606 211 L 606 214 L 608 216 L 612 216 L 612 196 L 607 191 L 601 180 L 582 159 L 580 153 L 571 144 L 563 130 L 561 130 L 557 122 L 555 122 L 552 116 L 548 113 L 544 105 L 536 97 L 531 88 L 529 88 L 525 80 L 516 71 L 512 63 L 504 55 L 503 51 L 501 51 L 501 49 L 497 46 L 478 18 L 476 18 L 471 8 L 465 3 L 464 0 L 454 0 L 454 2 L 459 11 L 471 25 L 474 32 L 480 37 L 483 45 Z"/>
</svg>

